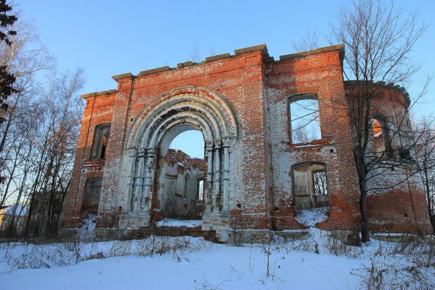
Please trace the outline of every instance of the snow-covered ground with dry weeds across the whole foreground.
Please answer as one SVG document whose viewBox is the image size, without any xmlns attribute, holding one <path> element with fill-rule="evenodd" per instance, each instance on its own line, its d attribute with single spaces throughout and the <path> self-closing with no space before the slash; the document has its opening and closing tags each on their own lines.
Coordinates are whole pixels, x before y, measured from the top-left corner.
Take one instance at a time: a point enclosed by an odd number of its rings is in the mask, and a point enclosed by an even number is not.
<svg viewBox="0 0 435 290">
<path fill-rule="evenodd" d="M 322 214 L 317 210 L 302 215 L 320 220 Z M 270 245 L 243 247 L 156 236 L 0 243 L 0 288 L 359 289 L 368 282 L 380 288 L 435 287 L 433 245 L 417 251 L 417 244 L 373 240 L 350 247 L 328 232 L 309 232 L 296 240 L 276 237 Z"/>
</svg>

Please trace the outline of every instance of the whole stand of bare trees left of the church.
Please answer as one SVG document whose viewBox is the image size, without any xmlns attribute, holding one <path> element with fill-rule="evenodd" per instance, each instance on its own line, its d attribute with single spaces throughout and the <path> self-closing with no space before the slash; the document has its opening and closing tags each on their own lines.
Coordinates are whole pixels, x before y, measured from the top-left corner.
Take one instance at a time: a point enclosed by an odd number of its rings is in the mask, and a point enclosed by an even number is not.
<svg viewBox="0 0 435 290">
<path fill-rule="evenodd" d="M 32 24 L 17 21 L 11 29 L 10 42 L 0 43 L 0 65 L 15 77 L 0 124 L 0 206 L 12 206 L 9 235 L 25 208 L 25 234 L 56 233 L 83 113 L 82 71 L 54 73 L 55 60 Z"/>
</svg>

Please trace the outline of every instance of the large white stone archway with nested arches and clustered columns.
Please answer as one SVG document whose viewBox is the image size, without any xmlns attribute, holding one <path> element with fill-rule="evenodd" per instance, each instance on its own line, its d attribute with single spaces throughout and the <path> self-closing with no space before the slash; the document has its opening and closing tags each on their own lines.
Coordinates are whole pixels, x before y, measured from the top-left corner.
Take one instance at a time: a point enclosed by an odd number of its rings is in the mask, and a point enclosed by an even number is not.
<svg viewBox="0 0 435 290">
<path fill-rule="evenodd" d="M 134 121 L 121 164 L 121 179 L 126 194 L 121 202 L 123 212 L 119 227 L 148 227 L 153 184 L 156 178 L 156 147 L 160 152 L 180 132 L 198 129 L 206 144 L 206 209 L 202 230 L 220 231 L 227 236 L 229 227 L 229 190 L 233 179 L 230 160 L 237 150 L 237 122 L 228 102 L 206 88 L 191 86 L 175 88 L 151 101 Z M 122 176 L 123 175 L 123 176 Z"/>
</svg>

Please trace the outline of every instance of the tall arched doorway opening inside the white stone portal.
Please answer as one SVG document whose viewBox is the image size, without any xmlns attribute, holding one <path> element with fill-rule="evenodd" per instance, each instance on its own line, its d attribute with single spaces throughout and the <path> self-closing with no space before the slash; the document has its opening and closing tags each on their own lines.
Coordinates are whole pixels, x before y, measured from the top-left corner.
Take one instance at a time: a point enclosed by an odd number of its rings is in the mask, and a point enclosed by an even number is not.
<svg viewBox="0 0 435 290">
<path fill-rule="evenodd" d="M 163 217 L 201 219 L 202 180 L 207 170 L 202 132 L 181 125 L 166 133 L 160 144 L 159 198 Z M 166 143 L 165 143 L 166 142 Z M 168 145 L 169 143 L 169 145 Z M 201 197 L 201 198 L 199 198 Z"/>
</svg>

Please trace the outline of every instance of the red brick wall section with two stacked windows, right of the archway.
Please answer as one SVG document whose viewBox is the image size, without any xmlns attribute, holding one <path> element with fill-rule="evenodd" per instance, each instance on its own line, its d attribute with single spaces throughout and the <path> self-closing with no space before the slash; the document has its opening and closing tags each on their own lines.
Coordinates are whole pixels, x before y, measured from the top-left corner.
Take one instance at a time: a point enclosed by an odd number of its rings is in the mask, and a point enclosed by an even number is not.
<svg viewBox="0 0 435 290">
<path fill-rule="evenodd" d="M 352 230 L 358 225 L 359 206 L 339 51 L 271 63 L 267 75 L 275 177 L 273 228 L 301 227 L 294 218 L 291 166 L 320 162 L 327 168 L 331 210 L 328 219 L 318 227 Z M 322 140 L 311 142 L 311 147 L 298 148 L 301 144 L 288 141 L 288 98 L 297 93 L 318 95 Z"/>
</svg>

